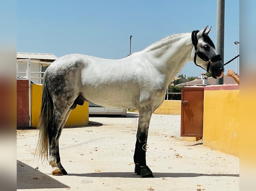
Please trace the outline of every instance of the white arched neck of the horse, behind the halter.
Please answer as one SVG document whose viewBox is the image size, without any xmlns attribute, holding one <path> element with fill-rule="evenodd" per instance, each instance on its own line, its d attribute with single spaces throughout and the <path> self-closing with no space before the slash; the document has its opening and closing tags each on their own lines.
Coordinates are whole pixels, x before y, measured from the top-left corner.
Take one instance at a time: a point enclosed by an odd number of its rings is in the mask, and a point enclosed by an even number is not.
<svg viewBox="0 0 256 191">
<path fill-rule="evenodd" d="M 166 81 L 170 82 L 191 61 L 192 48 L 191 33 L 183 33 L 166 37 L 148 46 L 143 52 L 149 62 L 166 75 Z"/>
</svg>

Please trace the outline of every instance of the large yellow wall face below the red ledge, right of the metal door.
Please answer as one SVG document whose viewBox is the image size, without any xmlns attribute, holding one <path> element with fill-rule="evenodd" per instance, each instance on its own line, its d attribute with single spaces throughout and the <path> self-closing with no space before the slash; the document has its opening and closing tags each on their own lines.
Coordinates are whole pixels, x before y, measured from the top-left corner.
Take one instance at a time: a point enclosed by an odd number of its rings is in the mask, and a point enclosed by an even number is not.
<svg viewBox="0 0 256 191">
<path fill-rule="evenodd" d="M 239 90 L 205 90 L 203 145 L 239 156 L 239 111 Z"/>
</svg>

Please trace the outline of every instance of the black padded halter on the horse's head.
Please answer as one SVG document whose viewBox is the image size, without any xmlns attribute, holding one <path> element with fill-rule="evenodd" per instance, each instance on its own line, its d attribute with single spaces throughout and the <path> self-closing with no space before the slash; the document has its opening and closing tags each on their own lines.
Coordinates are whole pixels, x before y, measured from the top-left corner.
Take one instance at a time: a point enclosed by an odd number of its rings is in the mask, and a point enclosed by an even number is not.
<svg viewBox="0 0 256 191">
<path fill-rule="evenodd" d="M 199 32 L 199 30 L 193 31 L 193 32 L 192 32 L 192 35 L 191 35 L 192 43 L 193 43 L 193 45 L 195 46 L 194 63 L 195 63 L 195 65 L 197 65 L 196 59 L 197 59 L 197 55 L 198 55 L 199 58 L 201 58 L 202 60 L 204 60 L 204 61 L 206 61 L 206 62 L 208 63 L 208 65 L 207 65 L 207 70 L 206 70 L 206 71 L 209 73 L 210 65 L 211 65 L 213 62 L 217 62 L 217 61 L 222 60 L 222 58 L 221 58 L 221 55 L 219 55 L 219 54 L 216 55 L 216 56 L 214 56 L 213 58 L 208 58 L 208 56 L 206 56 L 205 53 L 198 51 L 198 49 L 197 49 L 197 43 L 198 43 L 197 33 L 198 33 L 198 32 Z M 197 66 L 199 66 L 199 65 L 197 65 Z M 201 67 L 201 66 L 200 66 L 200 67 Z M 203 67 L 201 67 L 201 68 L 203 68 Z M 204 69 L 204 68 L 203 68 L 203 69 Z M 205 70 L 205 69 L 204 69 L 204 70 Z"/>
</svg>

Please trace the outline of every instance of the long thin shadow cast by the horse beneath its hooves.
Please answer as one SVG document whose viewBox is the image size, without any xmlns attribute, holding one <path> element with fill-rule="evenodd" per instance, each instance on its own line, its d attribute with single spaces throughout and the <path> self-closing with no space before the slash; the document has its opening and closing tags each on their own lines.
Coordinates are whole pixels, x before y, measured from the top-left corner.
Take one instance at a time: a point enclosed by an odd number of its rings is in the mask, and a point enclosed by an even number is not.
<svg viewBox="0 0 256 191">
<path fill-rule="evenodd" d="M 166 173 L 153 172 L 154 178 L 170 177 L 197 177 L 197 176 L 234 176 L 239 177 L 239 174 L 199 174 L 199 173 Z M 85 174 L 68 174 L 68 176 L 85 176 L 85 177 L 120 177 L 120 178 L 140 178 L 141 176 L 133 172 L 95 172 Z"/>
</svg>

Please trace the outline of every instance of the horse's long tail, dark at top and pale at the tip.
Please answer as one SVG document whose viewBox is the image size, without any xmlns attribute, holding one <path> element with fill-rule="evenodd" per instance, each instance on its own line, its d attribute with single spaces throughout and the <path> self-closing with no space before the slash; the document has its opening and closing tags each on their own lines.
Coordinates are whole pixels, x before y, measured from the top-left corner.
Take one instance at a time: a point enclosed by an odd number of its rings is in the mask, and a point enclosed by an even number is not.
<svg viewBox="0 0 256 191">
<path fill-rule="evenodd" d="M 39 138 L 36 146 L 35 154 L 41 157 L 44 161 L 45 158 L 48 161 L 48 149 L 49 149 L 49 135 L 48 126 L 52 123 L 52 117 L 54 112 L 53 101 L 49 93 L 46 81 L 46 73 L 43 78 L 42 85 L 42 104 L 39 116 L 39 123 L 37 129 L 39 129 Z"/>
</svg>

